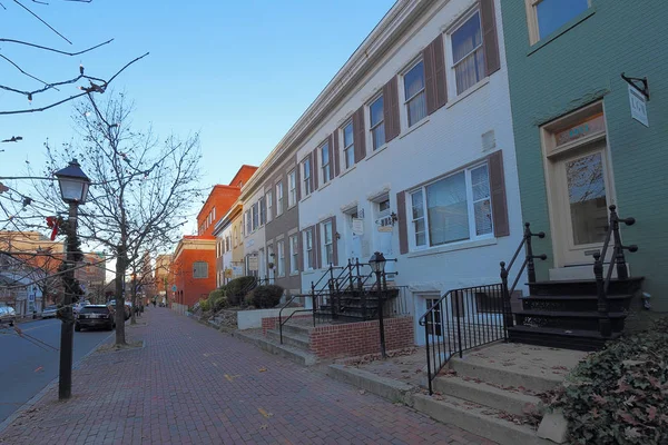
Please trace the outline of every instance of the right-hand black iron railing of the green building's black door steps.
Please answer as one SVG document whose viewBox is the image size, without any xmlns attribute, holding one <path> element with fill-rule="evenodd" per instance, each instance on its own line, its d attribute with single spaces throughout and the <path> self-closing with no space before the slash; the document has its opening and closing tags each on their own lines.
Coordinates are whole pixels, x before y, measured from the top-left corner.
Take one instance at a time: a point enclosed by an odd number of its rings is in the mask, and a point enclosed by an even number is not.
<svg viewBox="0 0 668 445">
<path fill-rule="evenodd" d="M 632 226 L 636 224 L 636 218 L 620 218 L 619 215 L 617 215 L 617 206 L 615 205 L 610 206 L 609 209 L 610 225 L 608 226 L 608 233 L 606 234 L 606 240 L 603 241 L 602 250 L 593 254 L 593 276 L 596 278 L 598 297 L 599 333 L 603 337 L 610 337 L 612 335 L 612 324 L 610 322 L 610 310 L 608 304 L 608 288 L 610 286 L 610 280 L 612 279 L 612 270 L 617 269 L 618 279 L 627 279 L 629 277 L 629 273 L 623 251 L 638 251 L 638 246 L 636 245 L 622 245 L 621 236 L 619 234 L 619 222 L 623 222 L 627 226 Z M 612 246 L 612 258 L 609 263 L 608 274 L 603 279 L 603 264 L 606 261 L 606 255 L 608 253 L 610 239 L 612 239 L 615 243 Z"/>
</svg>

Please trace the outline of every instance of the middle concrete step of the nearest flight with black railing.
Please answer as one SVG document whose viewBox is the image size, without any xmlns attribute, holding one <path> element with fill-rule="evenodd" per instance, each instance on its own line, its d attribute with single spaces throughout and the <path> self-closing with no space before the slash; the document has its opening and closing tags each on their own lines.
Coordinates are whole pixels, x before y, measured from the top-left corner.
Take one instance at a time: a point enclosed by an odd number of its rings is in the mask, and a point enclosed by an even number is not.
<svg viewBox="0 0 668 445">
<path fill-rule="evenodd" d="M 456 376 L 436 377 L 432 382 L 433 390 L 448 396 L 501 409 L 519 416 L 524 415 L 527 405 L 538 406 L 540 398 L 519 390 L 503 389 L 482 380 L 471 380 Z"/>
</svg>

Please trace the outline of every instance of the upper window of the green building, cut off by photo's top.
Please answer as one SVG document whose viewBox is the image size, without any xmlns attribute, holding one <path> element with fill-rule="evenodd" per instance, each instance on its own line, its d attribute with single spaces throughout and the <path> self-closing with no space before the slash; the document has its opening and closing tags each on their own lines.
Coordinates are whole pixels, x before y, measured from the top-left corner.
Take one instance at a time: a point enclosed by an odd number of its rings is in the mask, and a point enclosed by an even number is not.
<svg viewBox="0 0 668 445">
<path fill-rule="evenodd" d="M 591 0 L 527 0 L 531 43 L 544 39 L 589 9 Z"/>
</svg>

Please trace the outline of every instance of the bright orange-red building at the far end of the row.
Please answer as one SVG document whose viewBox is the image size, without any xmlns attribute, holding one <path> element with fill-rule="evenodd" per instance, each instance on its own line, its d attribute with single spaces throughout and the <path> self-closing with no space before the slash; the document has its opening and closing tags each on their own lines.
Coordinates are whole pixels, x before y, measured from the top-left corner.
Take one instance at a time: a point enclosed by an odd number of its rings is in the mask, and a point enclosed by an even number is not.
<svg viewBox="0 0 668 445">
<path fill-rule="evenodd" d="M 227 214 L 257 167 L 242 166 L 229 185 L 214 186 L 197 215 L 197 235 L 186 235 L 176 246 L 170 268 L 173 305 L 185 310 L 216 288 L 216 222 Z"/>
</svg>

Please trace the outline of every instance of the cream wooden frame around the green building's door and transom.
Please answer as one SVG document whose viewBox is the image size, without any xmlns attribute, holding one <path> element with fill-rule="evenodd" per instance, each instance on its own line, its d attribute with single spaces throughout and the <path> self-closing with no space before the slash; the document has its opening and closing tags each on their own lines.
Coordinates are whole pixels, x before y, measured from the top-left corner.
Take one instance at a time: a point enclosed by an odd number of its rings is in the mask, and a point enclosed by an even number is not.
<svg viewBox="0 0 668 445">
<path fill-rule="evenodd" d="M 574 128 L 578 125 L 583 123 L 586 119 L 595 117 L 597 115 L 602 115 L 602 129 L 595 130 L 590 135 L 586 135 L 583 137 L 564 142 L 562 145 L 557 145 L 557 134 L 569 128 Z M 573 264 L 568 263 L 567 254 L 563 247 L 564 243 L 562 243 L 566 241 L 566 246 L 572 245 L 572 239 L 568 238 L 569 235 L 572 236 L 571 230 L 568 230 L 566 227 L 563 227 L 561 218 L 557 216 L 558 212 L 563 210 L 561 207 L 563 205 L 562 197 L 561 199 L 559 199 L 556 196 L 556 194 L 560 192 L 562 195 L 564 190 L 553 187 L 553 185 L 557 184 L 556 181 L 558 180 L 557 176 L 560 172 L 560 164 L 563 162 L 566 159 L 577 156 L 577 152 L 586 154 L 587 147 L 591 147 L 593 144 L 597 142 L 602 142 L 602 162 L 605 169 L 603 180 L 606 181 L 606 198 L 608 200 L 607 205 L 617 204 L 617 194 L 615 190 L 615 176 L 612 171 L 610 146 L 608 144 L 608 125 L 606 120 L 603 101 L 599 100 L 578 110 L 569 112 L 562 117 L 559 117 L 541 126 L 539 130 L 542 148 L 541 152 L 548 204 L 547 210 L 552 241 L 553 267 L 563 268 L 568 266 L 573 266 Z M 591 151 L 593 152 L 596 150 Z M 564 239 L 564 237 L 567 238 Z M 596 250 L 596 246 L 592 245 L 591 249 Z M 593 258 L 591 263 L 593 264 Z"/>
</svg>

